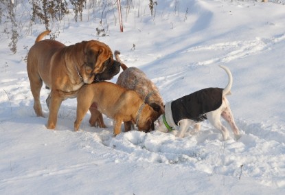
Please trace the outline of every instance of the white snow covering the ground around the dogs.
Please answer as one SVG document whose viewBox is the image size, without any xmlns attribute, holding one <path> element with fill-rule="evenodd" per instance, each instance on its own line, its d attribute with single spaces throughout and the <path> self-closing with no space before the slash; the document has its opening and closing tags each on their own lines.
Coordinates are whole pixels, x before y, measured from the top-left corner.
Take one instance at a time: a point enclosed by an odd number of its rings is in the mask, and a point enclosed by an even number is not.
<svg viewBox="0 0 285 195">
<path fill-rule="evenodd" d="M 222 141 L 207 121 L 182 139 L 175 131 L 113 137 L 112 119 L 104 117 L 109 128 L 93 128 L 89 113 L 74 132 L 75 99 L 62 103 L 56 130 L 47 130 L 47 117 L 34 113 L 23 60 L 45 27 L 19 27 L 16 54 L 10 38 L 0 37 L 0 194 L 285 193 L 284 3 L 167 0 L 158 1 L 155 16 L 148 3 L 133 0 L 127 16 L 122 6 L 123 33 L 112 9 L 102 19 L 108 36 L 95 32 L 102 10 L 98 16 L 84 10 L 78 23 L 70 14 L 52 31 L 60 30 L 56 40 L 66 45 L 96 39 L 119 50 L 128 67 L 156 84 L 164 102 L 225 87 L 227 74 L 218 65 L 229 67 L 228 100 L 242 137 L 235 141 L 229 131 Z M 43 87 L 45 116 L 48 93 Z"/>
</svg>

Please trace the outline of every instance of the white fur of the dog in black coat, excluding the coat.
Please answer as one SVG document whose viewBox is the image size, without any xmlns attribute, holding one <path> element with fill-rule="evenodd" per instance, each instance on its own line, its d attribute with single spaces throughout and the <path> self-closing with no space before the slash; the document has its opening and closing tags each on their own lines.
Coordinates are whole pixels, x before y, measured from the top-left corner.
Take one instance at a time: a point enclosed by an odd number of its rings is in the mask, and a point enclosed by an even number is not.
<svg viewBox="0 0 285 195">
<path fill-rule="evenodd" d="M 225 97 L 225 95 L 229 95 L 231 94 L 231 86 L 233 84 L 233 78 L 231 76 L 231 71 L 229 71 L 229 69 L 227 67 L 221 66 L 220 67 L 222 69 L 224 69 L 227 72 L 227 75 L 229 77 L 229 82 L 227 84 L 227 86 L 225 87 L 225 89 L 223 89 L 223 102 L 222 105 L 216 109 L 215 111 L 206 113 L 207 119 L 209 121 L 210 124 L 212 124 L 212 126 L 214 126 L 215 128 L 217 128 L 218 130 L 220 130 L 220 132 L 223 135 L 223 139 L 227 140 L 229 137 L 229 132 L 227 130 L 227 128 L 225 126 L 223 126 L 223 124 L 220 122 L 220 116 L 222 116 L 231 126 L 231 129 L 233 130 L 233 133 L 236 137 L 236 139 L 240 138 L 240 133 L 238 130 L 238 127 L 236 126 L 234 119 L 233 119 L 233 115 L 231 113 L 231 108 L 229 108 L 229 101 L 227 100 L 227 98 Z M 172 111 L 171 111 L 171 102 L 167 102 L 166 103 L 166 121 L 168 122 L 168 124 L 172 127 L 175 128 L 176 130 L 178 130 L 178 134 L 177 137 L 184 137 L 186 130 L 190 127 L 190 126 L 194 126 L 194 132 L 198 132 L 199 130 L 201 130 L 201 124 L 194 122 L 191 119 L 182 119 L 181 121 L 179 121 L 178 126 L 176 126 L 173 122 L 173 118 L 172 118 Z M 166 128 L 166 126 L 163 124 L 162 122 L 162 117 L 159 117 L 159 128 L 158 130 L 162 131 L 162 132 L 168 132 L 168 129 Z"/>
</svg>

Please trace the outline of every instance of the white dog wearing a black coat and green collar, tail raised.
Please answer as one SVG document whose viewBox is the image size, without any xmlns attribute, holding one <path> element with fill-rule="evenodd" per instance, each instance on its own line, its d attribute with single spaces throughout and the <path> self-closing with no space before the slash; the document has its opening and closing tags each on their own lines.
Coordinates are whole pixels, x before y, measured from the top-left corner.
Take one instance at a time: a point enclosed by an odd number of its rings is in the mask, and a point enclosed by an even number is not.
<svg viewBox="0 0 285 195">
<path fill-rule="evenodd" d="M 176 129 L 178 130 L 177 136 L 183 137 L 190 126 L 194 126 L 194 132 L 198 132 L 201 129 L 200 122 L 208 119 L 212 126 L 221 131 L 223 139 L 226 140 L 229 133 L 220 122 L 220 116 L 222 116 L 231 126 L 235 138 L 240 138 L 238 127 L 229 108 L 229 101 L 225 97 L 231 94 L 233 77 L 227 67 L 221 65 L 220 67 L 227 72 L 229 77 L 227 87 L 225 89 L 202 89 L 172 102 L 166 102 L 165 115 L 161 115 L 158 119 L 158 130 L 167 133 Z"/>
</svg>

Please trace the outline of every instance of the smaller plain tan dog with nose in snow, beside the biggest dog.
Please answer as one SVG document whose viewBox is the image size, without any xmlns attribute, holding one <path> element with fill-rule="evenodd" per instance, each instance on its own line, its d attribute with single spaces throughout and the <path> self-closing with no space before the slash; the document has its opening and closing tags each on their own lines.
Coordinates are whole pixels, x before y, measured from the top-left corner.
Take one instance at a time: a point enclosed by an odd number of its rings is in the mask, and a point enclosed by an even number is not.
<svg viewBox="0 0 285 195">
<path fill-rule="evenodd" d="M 101 113 L 114 119 L 114 135 L 121 132 L 122 122 L 137 124 L 138 129 L 146 133 L 155 128 L 157 112 L 145 104 L 135 91 L 124 89 L 111 82 L 98 82 L 86 84 L 78 92 L 74 130 L 78 130 L 91 104 L 93 104 L 91 118 L 94 121 Z M 128 130 L 130 127 L 125 126 L 125 132 Z"/>
</svg>

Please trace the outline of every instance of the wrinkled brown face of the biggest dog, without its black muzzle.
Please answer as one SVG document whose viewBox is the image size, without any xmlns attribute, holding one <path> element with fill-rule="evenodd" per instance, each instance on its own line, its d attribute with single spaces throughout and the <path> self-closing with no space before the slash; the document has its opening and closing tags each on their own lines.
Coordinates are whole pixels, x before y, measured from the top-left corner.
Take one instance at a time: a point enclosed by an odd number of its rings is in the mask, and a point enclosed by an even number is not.
<svg viewBox="0 0 285 195">
<path fill-rule="evenodd" d="M 100 41 L 88 41 L 84 48 L 84 67 L 82 77 L 85 83 L 91 83 L 95 75 L 103 73 L 113 65 L 113 54 L 108 45 Z M 104 76 L 104 78 L 108 78 Z"/>
</svg>

